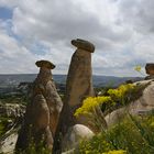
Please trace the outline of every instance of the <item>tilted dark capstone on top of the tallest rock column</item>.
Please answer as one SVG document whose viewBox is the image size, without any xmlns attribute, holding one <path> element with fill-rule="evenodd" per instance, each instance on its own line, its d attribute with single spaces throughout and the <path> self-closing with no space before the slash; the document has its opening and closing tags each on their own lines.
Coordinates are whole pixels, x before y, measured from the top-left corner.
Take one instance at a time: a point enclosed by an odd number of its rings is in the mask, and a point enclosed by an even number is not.
<svg viewBox="0 0 154 154">
<path fill-rule="evenodd" d="M 77 48 L 81 48 L 90 53 L 95 52 L 95 45 L 88 41 L 77 38 L 77 40 L 73 40 L 72 44 L 76 46 Z"/>
</svg>

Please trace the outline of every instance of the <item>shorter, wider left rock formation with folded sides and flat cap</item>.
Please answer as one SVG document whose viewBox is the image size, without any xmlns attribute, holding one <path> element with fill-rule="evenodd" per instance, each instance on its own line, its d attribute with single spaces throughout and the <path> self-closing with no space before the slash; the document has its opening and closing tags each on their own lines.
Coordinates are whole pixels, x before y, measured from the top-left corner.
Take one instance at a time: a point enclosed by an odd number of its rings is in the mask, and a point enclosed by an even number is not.
<svg viewBox="0 0 154 154">
<path fill-rule="evenodd" d="M 33 82 L 31 102 L 19 133 L 16 150 L 25 150 L 30 142 L 37 146 L 41 141 L 52 148 L 63 103 L 56 91 L 51 69 L 55 66 L 47 61 L 36 62 L 40 74 Z"/>
</svg>

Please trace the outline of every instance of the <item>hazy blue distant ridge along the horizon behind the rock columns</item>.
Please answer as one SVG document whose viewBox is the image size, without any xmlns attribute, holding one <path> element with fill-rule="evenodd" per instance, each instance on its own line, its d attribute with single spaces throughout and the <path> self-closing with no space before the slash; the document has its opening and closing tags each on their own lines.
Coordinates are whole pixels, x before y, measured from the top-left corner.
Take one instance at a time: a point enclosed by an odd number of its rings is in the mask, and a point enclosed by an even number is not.
<svg viewBox="0 0 154 154">
<path fill-rule="evenodd" d="M 54 75 L 53 78 L 57 84 L 66 84 L 66 75 Z M 20 82 L 32 82 L 36 78 L 36 74 L 21 75 L 0 75 L 0 87 L 15 87 Z M 141 80 L 140 77 L 114 77 L 114 76 L 94 76 L 95 87 L 117 87 L 127 80 Z"/>
</svg>

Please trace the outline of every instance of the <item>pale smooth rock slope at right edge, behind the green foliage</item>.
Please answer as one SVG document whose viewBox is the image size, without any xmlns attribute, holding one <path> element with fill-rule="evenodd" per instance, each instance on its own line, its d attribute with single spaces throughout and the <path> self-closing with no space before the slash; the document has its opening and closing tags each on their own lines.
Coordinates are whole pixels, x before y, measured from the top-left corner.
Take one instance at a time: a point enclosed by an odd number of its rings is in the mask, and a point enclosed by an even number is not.
<svg viewBox="0 0 154 154">
<path fill-rule="evenodd" d="M 142 91 L 142 96 L 132 101 L 128 107 L 123 107 L 112 111 L 111 113 L 106 116 L 106 121 L 108 127 L 111 127 L 118 122 L 120 122 L 128 113 L 132 116 L 144 116 L 153 112 L 154 110 L 154 81 L 142 80 L 134 82 L 134 85 L 147 85 L 145 89 Z"/>
</svg>

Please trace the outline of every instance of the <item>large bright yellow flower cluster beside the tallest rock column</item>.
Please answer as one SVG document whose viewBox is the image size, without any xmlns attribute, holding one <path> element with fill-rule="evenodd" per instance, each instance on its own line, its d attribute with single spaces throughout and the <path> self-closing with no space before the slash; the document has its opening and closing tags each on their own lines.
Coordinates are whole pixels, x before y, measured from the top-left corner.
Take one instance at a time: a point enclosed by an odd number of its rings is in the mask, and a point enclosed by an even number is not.
<svg viewBox="0 0 154 154">
<path fill-rule="evenodd" d="M 117 89 L 109 89 L 109 96 L 98 96 L 98 97 L 89 97 L 86 98 L 82 102 L 82 106 L 78 108 L 75 112 L 75 116 L 79 114 L 88 114 L 94 111 L 94 109 L 101 105 L 107 105 L 107 108 L 111 108 L 118 103 L 123 103 L 123 101 L 128 101 L 127 95 L 133 90 L 135 86 L 133 84 L 121 85 Z"/>
</svg>

